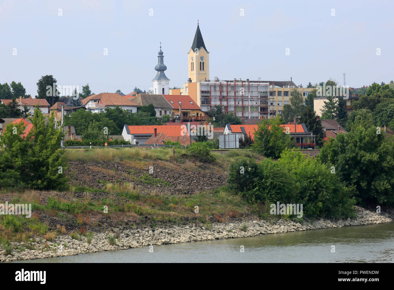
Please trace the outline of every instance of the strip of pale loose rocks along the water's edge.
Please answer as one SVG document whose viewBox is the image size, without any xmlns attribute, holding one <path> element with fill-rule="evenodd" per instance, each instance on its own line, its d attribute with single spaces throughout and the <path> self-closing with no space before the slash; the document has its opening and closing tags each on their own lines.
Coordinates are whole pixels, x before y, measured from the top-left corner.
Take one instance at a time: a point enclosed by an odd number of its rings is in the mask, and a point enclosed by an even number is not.
<svg viewBox="0 0 394 290">
<path fill-rule="evenodd" d="M 0 252 L 0 262 L 15 260 L 32 260 L 56 256 L 72 256 L 83 253 L 113 251 L 143 246 L 176 244 L 190 241 L 208 241 L 214 239 L 246 238 L 264 234 L 279 234 L 323 228 L 340 228 L 343 226 L 372 225 L 393 222 L 392 212 L 377 214 L 356 207 L 357 216 L 347 220 L 320 219 L 305 220 L 301 225 L 292 221 L 280 219 L 273 223 L 263 220 L 249 219 L 233 223 L 212 223 L 206 227 L 203 224 L 191 224 L 183 227 L 169 225 L 156 228 L 123 227 L 111 228 L 105 233 L 95 233 L 90 243 L 87 236 L 73 239 L 68 235 L 57 236 L 52 242 L 39 237 L 33 237 L 29 245 L 26 243 L 11 243 L 14 248 L 12 255 L 6 251 Z M 74 236 L 76 238 L 76 236 Z M 113 245 L 110 244 L 110 241 Z M 26 249 L 24 249 L 26 247 Z"/>
</svg>

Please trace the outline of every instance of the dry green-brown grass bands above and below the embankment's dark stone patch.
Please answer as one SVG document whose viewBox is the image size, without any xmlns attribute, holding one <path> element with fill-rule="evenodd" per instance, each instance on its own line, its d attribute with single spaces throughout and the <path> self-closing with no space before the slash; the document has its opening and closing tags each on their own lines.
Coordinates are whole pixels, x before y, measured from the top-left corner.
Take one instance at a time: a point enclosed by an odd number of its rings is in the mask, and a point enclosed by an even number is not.
<svg viewBox="0 0 394 290">
<path fill-rule="evenodd" d="M 66 158 L 69 161 L 90 162 L 119 162 L 129 165 L 141 162 L 160 162 L 169 168 L 178 170 L 206 170 L 207 172 L 226 172 L 234 159 L 239 157 L 254 157 L 257 160 L 261 156 L 251 150 L 232 150 L 227 154 L 213 153 L 216 161 L 212 164 L 199 164 L 184 158 L 184 150 L 171 148 L 144 149 L 144 148 L 99 148 L 92 150 L 66 150 Z M 177 161 L 176 167 L 174 167 Z M 152 180 L 146 180 L 152 182 Z M 160 181 L 153 180 L 159 183 Z M 91 193 L 104 193 L 104 198 L 91 199 Z M 78 194 L 79 193 L 79 194 Z M 82 195 L 83 193 L 83 195 Z M 44 198 L 43 198 L 44 197 Z M 221 187 L 209 192 L 200 192 L 184 196 L 140 195 L 133 183 L 112 184 L 107 183 L 104 189 L 71 186 L 67 192 L 34 190 L 27 191 L 2 191 L 0 203 L 28 203 L 32 204 L 33 217 L 8 216 L 5 221 L 0 218 L 0 242 L 7 241 L 31 241 L 31 234 L 39 234 L 46 239 L 51 239 L 54 233 L 60 232 L 59 226 L 62 220 L 72 219 L 75 228 L 86 225 L 88 227 L 92 217 L 109 215 L 111 220 L 134 220 L 148 217 L 151 221 L 161 222 L 184 222 L 200 221 L 228 221 L 231 218 L 248 215 L 251 211 L 249 205 L 239 196 L 231 193 L 226 187 Z M 103 207 L 110 209 L 107 214 L 103 213 Z M 195 213 L 195 206 L 199 207 L 199 213 Z M 59 221 L 58 228 L 50 228 L 41 216 L 55 217 Z M 10 226 L 11 225 L 11 226 Z M 31 232 L 23 228 L 28 226 Z M 70 232 L 70 229 L 67 229 Z M 55 233 L 55 234 L 56 234 Z"/>
</svg>

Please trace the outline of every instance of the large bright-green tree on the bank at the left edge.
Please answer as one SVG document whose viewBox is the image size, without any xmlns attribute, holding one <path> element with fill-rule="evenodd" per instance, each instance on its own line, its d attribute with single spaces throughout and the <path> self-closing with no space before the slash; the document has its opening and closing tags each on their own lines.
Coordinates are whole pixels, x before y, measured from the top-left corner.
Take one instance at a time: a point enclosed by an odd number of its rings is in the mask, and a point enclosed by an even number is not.
<svg viewBox="0 0 394 290">
<path fill-rule="evenodd" d="M 1 145 L 5 145 L 0 155 L 0 186 L 26 186 L 32 189 L 64 189 L 67 186 L 63 158 L 64 150 L 60 141 L 64 136 L 55 127 L 54 113 L 45 125 L 45 117 L 36 106 L 33 128 L 26 138 L 21 137 L 25 127 L 23 122 L 10 123 L 2 136 Z M 13 134 L 17 127 L 17 134 Z"/>
</svg>

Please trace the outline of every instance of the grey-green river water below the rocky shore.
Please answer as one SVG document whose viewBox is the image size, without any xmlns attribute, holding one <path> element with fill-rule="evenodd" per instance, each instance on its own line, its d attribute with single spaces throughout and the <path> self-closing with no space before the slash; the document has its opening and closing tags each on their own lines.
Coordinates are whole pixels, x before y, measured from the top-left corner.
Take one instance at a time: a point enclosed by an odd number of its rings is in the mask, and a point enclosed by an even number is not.
<svg viewBox="0 0 394 290">
<path fill-rule="evenodd" d="M 153 253 L 142 247 L 15 262 L 394 262 L 394 223 L 161 245 Z"/>
</svg>

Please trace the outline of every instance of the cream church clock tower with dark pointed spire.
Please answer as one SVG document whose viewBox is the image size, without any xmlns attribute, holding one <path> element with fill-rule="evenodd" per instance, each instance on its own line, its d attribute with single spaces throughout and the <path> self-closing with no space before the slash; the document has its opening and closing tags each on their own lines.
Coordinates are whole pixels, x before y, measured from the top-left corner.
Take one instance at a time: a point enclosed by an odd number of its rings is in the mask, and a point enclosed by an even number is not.
<svg viewBox="0 0 394 290">
<path fill-rule="evenodd" d="M 206 50 L 198 21 L 193 44 L 188 52 L 188 66 L 191 82 L 209 80 L 209 52 Z"/>
</svg>

